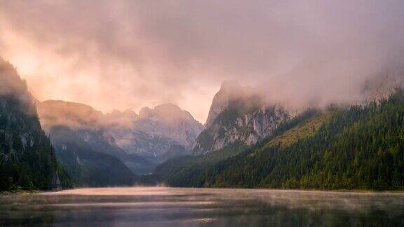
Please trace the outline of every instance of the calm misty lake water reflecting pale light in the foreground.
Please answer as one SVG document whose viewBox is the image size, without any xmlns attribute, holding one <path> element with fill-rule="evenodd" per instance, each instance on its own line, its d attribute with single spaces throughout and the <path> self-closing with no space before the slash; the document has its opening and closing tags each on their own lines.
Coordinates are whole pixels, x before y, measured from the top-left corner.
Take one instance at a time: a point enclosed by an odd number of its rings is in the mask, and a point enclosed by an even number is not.
<svg viewBox="0 0 404 227">
<path fill-rule="evenodd" d="M 404 226 L 404 193 L 83 188 L 0 195 L 0 226 Z"/>
</svg>

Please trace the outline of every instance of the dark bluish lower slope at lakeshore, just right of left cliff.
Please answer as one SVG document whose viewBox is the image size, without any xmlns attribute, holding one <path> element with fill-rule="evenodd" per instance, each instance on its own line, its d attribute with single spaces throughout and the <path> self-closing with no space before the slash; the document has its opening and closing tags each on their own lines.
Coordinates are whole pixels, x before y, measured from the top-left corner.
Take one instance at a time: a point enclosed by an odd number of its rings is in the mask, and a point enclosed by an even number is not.
<svg viewBox="0 0 404 227">
<path fill-rule="evenodd" d="M 49 129 L 60 165 L 72 176 L 75 186 L 133 185 L 136 176 L 114 150 L 97 149 L 81 130 L 58 125 Z M 89 138 L 89 137 L 88 137 Z"/>
</svg>

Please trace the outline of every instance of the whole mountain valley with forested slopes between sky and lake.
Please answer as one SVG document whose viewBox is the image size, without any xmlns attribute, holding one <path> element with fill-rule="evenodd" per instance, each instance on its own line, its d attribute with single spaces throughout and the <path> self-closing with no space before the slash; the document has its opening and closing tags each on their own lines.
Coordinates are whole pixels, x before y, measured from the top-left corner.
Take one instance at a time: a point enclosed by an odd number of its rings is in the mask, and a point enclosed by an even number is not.
<svg viewBox="0 0 404 227">
<path fill-rule="evenodd" d="M 213 99 L 206 124 L 201 125 L 174 104 L 145 107 L 140 114 L 130 110 L 103 114 L 86 104 L 35 101 L 13 67 L 6 62 L 2 65 L 2 74 L 11 75 L 3 83 L 7 95 L 2 98 L 1 116 L 8 128 L 2 131 L 6 133 L 1 167 L 11 174 L 1 180 L 3 188 L 134 184 L 321 190 L 404 187 L 401 88 L 390 87 L 390 95 L 363 104 L 294 111 L 267 102 L 252 88 L 225 82 Z M 15 115 L 21 120 L 6 117 L 10 111 L 22 111 Z M 14 121 L 33 121 L 35 126 L 29 127 L 36 128 L 40 122 L 43 132 L 24 126 L 10 135 L 7 125 Z M 43 170 L 53 176 L 48 186 L 39 186 L 29 177 L 27 171 L 36 163 L 24 157 L 29 154 L 27 147 L 42 143 L 34 140 L 41 137 L 46 138 L 41 139 L 45 143 L 41 147 L 48 147 L 53 157 L 47 159 L 53 171 Z M 15 138 L 16 144 L 6 145 L 6 138 Z M 22 153 L 15 155 L 15 151 Z M 27 167 L 13 170 L 11 157 Z"/>
</svg>

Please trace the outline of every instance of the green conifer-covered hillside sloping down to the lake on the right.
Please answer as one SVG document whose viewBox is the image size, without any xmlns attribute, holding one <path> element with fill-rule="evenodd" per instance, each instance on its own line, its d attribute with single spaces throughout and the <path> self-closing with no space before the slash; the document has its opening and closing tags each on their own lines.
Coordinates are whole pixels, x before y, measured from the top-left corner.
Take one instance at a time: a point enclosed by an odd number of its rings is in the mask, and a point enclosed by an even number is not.
<svg viewBox="0 0 404 227">
<path fill-rule="evenodd" d="M 401 89 L 365 105 L 309 110 L 237 156 L 187 174 L 196 160 L 171 164 L 161 180 L 170 186 L 403 189 L 403 116 Z"/>
</svg>

